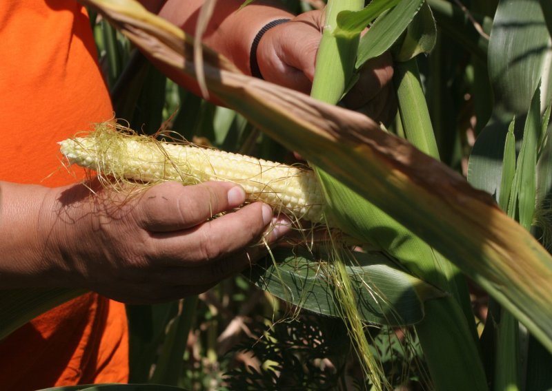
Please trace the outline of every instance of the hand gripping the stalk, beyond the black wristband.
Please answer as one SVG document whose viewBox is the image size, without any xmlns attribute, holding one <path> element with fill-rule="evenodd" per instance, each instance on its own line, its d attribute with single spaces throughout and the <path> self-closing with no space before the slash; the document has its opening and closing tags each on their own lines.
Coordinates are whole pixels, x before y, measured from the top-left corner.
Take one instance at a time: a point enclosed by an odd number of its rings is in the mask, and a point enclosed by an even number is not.
<svg viewBox="0 0 552 391">
<path fill-rule="evenodd" d="M 257 47 L 257 63 L 266 81 L 310 93 L 323 18 L 322 10 L 305 12 L 264 34 Z M 342 103 L 388 124 L 397 110 L 392 79 L 393 59 L 386 52 L 362 67 L 359 80 Z"/>
</svg>

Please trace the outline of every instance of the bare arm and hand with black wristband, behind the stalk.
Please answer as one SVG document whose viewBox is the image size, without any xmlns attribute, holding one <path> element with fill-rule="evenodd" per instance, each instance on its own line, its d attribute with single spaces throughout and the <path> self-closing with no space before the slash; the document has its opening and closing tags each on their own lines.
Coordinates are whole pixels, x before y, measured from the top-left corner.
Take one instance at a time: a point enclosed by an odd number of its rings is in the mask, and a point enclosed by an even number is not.
<svg viewBox="0 0 552 391">
<path fill-rule="evenodd" d="M 180 0 L 168 0 L 159 15 L 184 31 L 195 34 L 197 14 L 203 3 L 203 0 L 188 0 L 184 7 Z M 219 1 L 203 42 L 224 54 L 239 70 L 251 74 L 251 46 L 259 30 L 270 21 L 290 19 L 262 36 L 257 45 L 257 64 L 266 81 L 309 94 L 322 38 L 324 10 L 305 12 L 295 17 L 282 9 L 278 1 L 256 0 L 240 8 L 243 3 L 243 0 Z M 158 66 L 177 83 L 199 94 L 199 88 L 190 76 L 163 65 Z M 392 78 L 390 54 L 368 61 L 359 74 L 359 81 L 344 99 L 344 104 L 376 121 L 388 123 L 397 108 Z"/>
</svg>

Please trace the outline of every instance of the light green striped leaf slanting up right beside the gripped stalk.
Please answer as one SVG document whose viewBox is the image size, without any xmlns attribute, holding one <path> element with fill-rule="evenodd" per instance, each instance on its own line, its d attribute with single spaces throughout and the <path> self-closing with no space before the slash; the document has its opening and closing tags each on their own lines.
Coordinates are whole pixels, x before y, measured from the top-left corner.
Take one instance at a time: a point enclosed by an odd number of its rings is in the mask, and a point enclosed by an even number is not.
<svg viewBox="0 0 552 391">
<path fill-rule="evenodd" d="M 400 38 L 422 7 L 424 0 L 401 1 L 395 8 L 382 14 L 362 36 L 358 46 L 356 69 L 374 57 L 389 50 Z"/>
</svg>

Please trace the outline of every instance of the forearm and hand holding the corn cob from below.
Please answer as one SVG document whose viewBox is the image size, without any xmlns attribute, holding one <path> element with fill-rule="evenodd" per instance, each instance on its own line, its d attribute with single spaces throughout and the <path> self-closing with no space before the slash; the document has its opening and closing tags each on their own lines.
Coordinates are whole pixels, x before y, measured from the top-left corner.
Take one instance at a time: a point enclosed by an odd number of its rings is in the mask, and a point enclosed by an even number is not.
<svg viewBox="0 0 552 391">
<path fill-rule="evenodd" d="M 97 182 L 88 185 L 93 197 L 77 184 L 37 186 L 30 199 L 26 186 L 3 184 L 3 222 L 20 223 L 17 230 L 0 224 L 0 233 L 21 246 L 3 253 L 0 286 L 88 288 L 131 303 L 185 297 L 255 262 L 265 247 L 249 245 L 274 220 L 262 202 L 208 220 L 244 202 L 243 189 L 228 182 L 188 187 L 164 182 L 132 198 Z M 38 210 L 35 204 L 50 207 Z M 287 231 L 276 224 L 266 242 Z M 25 242 L 29 232 L 34 240 Z"/>
</svg>

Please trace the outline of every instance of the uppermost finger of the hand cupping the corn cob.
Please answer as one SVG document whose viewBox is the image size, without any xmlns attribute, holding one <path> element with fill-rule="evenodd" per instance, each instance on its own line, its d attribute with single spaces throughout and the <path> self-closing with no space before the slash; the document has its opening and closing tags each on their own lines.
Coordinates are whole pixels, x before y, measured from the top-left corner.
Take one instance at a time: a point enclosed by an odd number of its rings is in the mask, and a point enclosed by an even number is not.
<svg viewBox="0 0 552 391">
<path fill-rule="evenodd" d="M 245 199 L 244 189 L 228 182 L 205 182 L 186 187 L 166 182 L 148 189 L 134 213 L 137 223 L 146 231 L 179 231 L 239 207 Z"/>
</svg>

